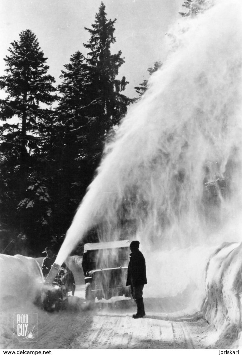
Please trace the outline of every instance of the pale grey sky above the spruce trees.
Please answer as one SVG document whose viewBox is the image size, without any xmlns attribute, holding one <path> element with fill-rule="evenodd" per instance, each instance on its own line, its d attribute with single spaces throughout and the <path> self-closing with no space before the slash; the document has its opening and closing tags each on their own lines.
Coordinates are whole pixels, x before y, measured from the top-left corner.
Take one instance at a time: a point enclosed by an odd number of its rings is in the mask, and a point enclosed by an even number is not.
<svg viewBox="0 0 242 355">
<path fill-rule="evenodd" d="M 114 20 L 116 43 L 111 53 L 122 51 L 125 64 L 120 77 L 129 81 L 126 94 L 136 96 L 133 89 L 147 77 L 146 69 L 156 60 L 163 60 L 162 39 L 174 21 L 179 20 L 184 0 L 103 0 L 107 18 Z M 1 0 L 0 75 L 4 73 L 3 58 L 19 33 L 31 29 L 38 38 L 48 73 L 60 83 L 59 75 L 70 56 L 90 38 L 84 27 L 91 27 L 101 0 Z"/>
</svg>

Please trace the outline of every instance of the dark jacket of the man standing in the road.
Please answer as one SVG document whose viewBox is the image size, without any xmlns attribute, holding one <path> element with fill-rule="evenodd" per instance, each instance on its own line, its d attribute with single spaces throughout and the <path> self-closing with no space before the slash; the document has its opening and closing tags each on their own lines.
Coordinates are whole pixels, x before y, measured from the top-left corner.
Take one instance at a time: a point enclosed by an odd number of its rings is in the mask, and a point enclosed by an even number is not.
<svg viewBox="0 0 242 355">
<path fill-rule="evenodd" d="M 130 254 L 126 286 L 139 286 L 145 284 L 147 284 L 145 258 L 142 252 L 137 249 L 137 251 Z"/>
</svg>

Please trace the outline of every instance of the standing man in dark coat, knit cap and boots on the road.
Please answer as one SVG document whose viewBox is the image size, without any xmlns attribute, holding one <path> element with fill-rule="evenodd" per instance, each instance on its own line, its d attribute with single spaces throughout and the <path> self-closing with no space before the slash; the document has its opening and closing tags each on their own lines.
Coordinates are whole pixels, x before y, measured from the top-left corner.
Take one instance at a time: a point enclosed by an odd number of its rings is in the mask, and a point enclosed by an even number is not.
<svg viewBox="0 0 242 355">
<path fill-rule="evenodd" d="M 133 318 L 142 318 L 145 316 L 143 302 L 143 288 L 147 284 L 145 258 L 139 251 L 139 241 L 134 240 L 130 244 L 130 261 L 128 264 L 128 276 L 126 286 L 131 285 L 131 294 L 137 304 L 137 313 Z"/>
</svg>

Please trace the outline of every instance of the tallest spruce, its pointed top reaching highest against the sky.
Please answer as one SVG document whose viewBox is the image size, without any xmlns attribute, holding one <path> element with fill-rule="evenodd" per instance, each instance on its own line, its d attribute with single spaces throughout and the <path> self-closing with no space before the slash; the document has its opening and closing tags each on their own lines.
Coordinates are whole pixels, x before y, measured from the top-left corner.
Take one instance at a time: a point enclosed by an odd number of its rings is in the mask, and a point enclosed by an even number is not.
<svg viewBox="0 0 242 355">
<path fill-rule="evenodd" d="M 93 117 L 93 144 L 97 151 L 102 151 L 102 142 L 107 132 L 127 113 L 127 106 L 131 99 L 122 92 L 128 82 L 125 77 L 117 79 L 120 66 L 125 62 L 121 57 L 122 52 L 111 54 L 111 44 L 116 42 L 114 37 L 115 20 L 107 20 L 103 2 L 96 13 L 95 23 L 92 28 L 85 29 L 91 34 L 88 44 L 83 44 L 89 49 L 87 63 L 92 70 L 92 115 Z M 95 124 L 94 124 L 95 122 Z M 95 142 L 96 141 L 96 142 Z"/>
</svg>

